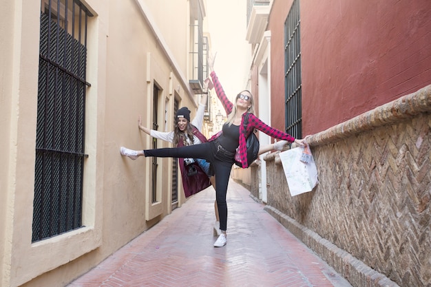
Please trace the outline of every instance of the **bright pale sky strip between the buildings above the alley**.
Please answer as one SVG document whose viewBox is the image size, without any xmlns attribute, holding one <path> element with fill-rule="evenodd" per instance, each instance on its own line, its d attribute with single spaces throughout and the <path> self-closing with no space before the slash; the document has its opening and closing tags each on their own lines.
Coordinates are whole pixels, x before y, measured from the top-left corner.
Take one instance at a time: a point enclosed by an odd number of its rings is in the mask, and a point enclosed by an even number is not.
<svg viewBox="0 0 431 287">
<path fill-rule="evenodd" d="M 214 70 L 229 98 L 246 89 L 251 45 L 246 41 L 246 0 L 207 0 Z"/>
</svg>

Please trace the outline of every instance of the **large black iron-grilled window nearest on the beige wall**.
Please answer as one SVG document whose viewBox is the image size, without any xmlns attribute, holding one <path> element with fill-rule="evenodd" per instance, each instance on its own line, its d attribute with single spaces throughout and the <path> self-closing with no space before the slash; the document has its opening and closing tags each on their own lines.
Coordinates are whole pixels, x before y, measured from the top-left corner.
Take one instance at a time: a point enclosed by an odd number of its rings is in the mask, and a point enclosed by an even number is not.
<svg viewBox="0 0 431 287">
<path fill-rule="evenodd" d="M 82 226 L 87 19 L 76 0 L 41 1 L 32 242 Z"/>
</svg>

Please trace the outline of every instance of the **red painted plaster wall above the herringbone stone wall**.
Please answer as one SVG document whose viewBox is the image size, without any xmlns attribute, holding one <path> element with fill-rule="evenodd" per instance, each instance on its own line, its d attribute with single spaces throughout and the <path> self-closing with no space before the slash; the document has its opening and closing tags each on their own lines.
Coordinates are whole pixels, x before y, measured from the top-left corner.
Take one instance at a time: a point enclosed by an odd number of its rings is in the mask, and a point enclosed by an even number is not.
<svg viewBox="0 0 431 287">
<path fill-rule="evenodd" d="M 275 0 L 269 20 L 271 120 L 279 129 L 292 2 Z M 301 0 L 300 10 L 304 136 L 431 84 L 430 0 Z"/>
</svg>

